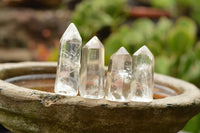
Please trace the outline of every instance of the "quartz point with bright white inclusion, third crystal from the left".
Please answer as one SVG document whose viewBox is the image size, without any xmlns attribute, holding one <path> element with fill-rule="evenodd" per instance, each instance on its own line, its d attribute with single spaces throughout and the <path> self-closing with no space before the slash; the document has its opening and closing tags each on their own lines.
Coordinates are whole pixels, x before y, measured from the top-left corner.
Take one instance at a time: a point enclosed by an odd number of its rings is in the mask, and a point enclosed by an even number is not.
<svg viewBox="0 0 200 133">
<path fill-rule="evenodd" d="M 125 102 L 130 99 L 132 59 L 124 47 L 114 53 L 109 62 L 105 98 Z"/>
</svg>

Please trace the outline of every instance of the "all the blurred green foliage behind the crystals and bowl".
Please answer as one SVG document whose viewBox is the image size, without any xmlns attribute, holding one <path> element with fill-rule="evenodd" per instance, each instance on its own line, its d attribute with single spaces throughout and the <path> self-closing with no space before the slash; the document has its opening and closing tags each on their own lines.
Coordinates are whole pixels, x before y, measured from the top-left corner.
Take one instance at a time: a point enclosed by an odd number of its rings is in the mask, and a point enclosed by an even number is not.
<svg viewBox="0 0 200 133">
<path fill-rule="evenodd" d="M 171 75 L 200 87 L 200 0 L 150 0 L 153 7 L 170 11 L 173 19 L 129 19 L 126 0 L 86 0 L 76 8 L 74 22 L 84 44 L 104 27 L 111 34 L 103 40 L 106 65 L 121 46 L 133 54 L 147 45 L 155 56 L 155 72 Z M 184 16 L 188 17 L 184 17 Z M 198 25 L 198 26 L 197 26 Z M 200 117 L 194 117 L 186 131 L 198 133 Z"/>
</svg>

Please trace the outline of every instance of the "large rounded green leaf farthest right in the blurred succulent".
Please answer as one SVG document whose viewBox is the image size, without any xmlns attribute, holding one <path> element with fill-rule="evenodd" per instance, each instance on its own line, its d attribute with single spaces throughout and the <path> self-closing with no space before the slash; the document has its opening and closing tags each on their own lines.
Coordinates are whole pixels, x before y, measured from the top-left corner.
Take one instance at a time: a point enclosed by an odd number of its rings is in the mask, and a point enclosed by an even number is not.
<svg viewBox="0 0 200 133">
<path fill-rule="evenodd" d="M 188 51 L 194 45 L 196 33 L 197 27 L 193 20 L 187 17 L 179 18 L 168 33 L 167 43 L 170 50 L 179 55 Z"/>
</svg>

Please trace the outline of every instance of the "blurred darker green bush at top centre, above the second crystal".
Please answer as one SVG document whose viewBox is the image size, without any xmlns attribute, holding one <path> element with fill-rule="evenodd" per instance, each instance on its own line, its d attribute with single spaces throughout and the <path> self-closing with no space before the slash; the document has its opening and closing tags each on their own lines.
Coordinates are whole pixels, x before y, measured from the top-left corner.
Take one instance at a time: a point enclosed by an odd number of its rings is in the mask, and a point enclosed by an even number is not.
<svg viewBox="0 0 200 133">
<path fill-rule="evenodd" d="M 79 27 L 83 41 L 88 40 L 104 27 L 115 29 L 124 21 L 125 0 L 87 0 L 78 5 L 72 21 Z"/>
</svg>

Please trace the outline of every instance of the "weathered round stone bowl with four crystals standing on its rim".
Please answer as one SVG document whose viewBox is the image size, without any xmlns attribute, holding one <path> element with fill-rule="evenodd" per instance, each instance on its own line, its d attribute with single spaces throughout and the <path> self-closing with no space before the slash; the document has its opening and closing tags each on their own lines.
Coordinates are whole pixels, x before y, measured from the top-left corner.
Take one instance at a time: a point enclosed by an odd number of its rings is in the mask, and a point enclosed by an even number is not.
<svg viewBox="0 0 200 133">
<path fill-rule="evenodd" d="M 197 87 L 160 74 L 155 74 L 155 83 L 177 95 L 149 103 L 62 96 L 5 81 L 55 72 L 53 62 L 1 64 L 0 123 L 14 133 L 176 133 L 200 112 Z"/>
</svg>

